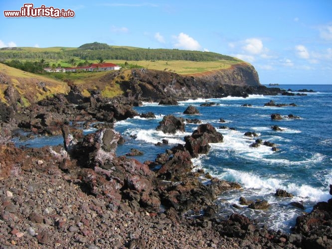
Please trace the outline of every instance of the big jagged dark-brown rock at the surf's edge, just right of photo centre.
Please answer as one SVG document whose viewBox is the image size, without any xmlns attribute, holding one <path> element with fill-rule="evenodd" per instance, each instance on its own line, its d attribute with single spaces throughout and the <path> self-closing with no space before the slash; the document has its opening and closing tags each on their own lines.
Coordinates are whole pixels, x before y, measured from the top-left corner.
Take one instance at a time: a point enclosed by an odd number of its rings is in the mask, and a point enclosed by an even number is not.
<svg viewBox="0 0 332 249">
<path fill-rule="evenodd" d="M 222 142 L 223 136 L 211 124 L 200 124 L 190 136 L 184 137 L 184 141 L 184 147 L 192 157 L 196 157 L 209 151 L 209 143 Z"/>
</svg>

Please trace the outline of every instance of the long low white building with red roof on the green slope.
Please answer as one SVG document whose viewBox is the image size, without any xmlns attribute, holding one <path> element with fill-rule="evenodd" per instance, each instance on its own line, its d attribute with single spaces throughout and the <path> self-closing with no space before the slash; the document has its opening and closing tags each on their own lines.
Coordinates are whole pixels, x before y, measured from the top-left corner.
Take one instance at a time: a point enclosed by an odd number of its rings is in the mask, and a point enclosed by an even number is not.
<svg viewBox="0 0 332 249">
<path fill-rule="evenodd" d="M 49 73 L 82 72 L 82 71 L 102 72 L 102 71 L 120 70 L 120 68 L 121 67 L 116 64 L 104 62 L 104 63 L 94 63 L 86 67 L 66 67 L 66 68 L 60 68 L 61 70 L 59 68 L 56 68 L 54 70 L 52 68 L 44 68 L 44 70 Z"/>
</svg>

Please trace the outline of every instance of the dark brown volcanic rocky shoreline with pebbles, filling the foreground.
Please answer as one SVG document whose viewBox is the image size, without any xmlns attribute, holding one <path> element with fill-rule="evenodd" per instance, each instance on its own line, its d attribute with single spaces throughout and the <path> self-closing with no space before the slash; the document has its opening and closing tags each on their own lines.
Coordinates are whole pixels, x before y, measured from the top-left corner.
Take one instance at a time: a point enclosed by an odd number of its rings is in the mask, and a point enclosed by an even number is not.
<svg viewBox="0 0 332 249">
<path fill-rule="evenodd" d="M 224 88 L 233 89 L 231 96 L 263 91 Z M 332 199 L 299 217 L 291 234 L 257 227 L 239 214 L 218 217 L 215 198 L 241 186 L 193 168 L 191 158 L 223 139 L 210 124 L 200 124 L 184 145 L 154 161 L 117 156 L 117 144 L 125 141 L 113 123 L 138 116 L 132 107 L 148 99 L 106 99 L 98 91 L 86 98 L 72 86 L 68 95 L 28 108 L 1 104 L 1 248 L 332 248 Z M 98 131 L 83 136 L 80 126 L 96 121 Z M 16 128 L 62 134 L 64 144 L 17 148 L 9 141 Z M 183 128 L 174 116 L 165 116 L 158 127 L 170 133 Z"/>
</svg>

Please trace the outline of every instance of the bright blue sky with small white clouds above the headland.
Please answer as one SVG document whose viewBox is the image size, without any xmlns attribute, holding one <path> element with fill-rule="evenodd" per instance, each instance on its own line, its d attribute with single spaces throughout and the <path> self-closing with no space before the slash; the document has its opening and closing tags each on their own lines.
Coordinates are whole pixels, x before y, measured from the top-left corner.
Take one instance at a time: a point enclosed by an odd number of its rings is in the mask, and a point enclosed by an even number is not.
<svg viewBox="0 0 332 249">
<path fill-rule="evenodd" d="M 4 16 L 24 3 L 75 16 Z M 0 0 L 0 9 L 0 47 L 211 51 L 251 63 L 261 84 L 332 84 L 332 0 Z"/>
</svg>

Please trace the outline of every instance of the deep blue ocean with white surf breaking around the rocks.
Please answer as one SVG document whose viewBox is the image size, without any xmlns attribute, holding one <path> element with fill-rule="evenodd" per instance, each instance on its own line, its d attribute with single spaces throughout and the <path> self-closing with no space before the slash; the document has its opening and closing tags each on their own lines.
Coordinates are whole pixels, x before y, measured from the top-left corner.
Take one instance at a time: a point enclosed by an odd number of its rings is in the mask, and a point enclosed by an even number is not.
<svg viewBox="0 0 332 249">
<path fill-rule="evenodd" d="M 186 124 L 185 132 L 175 135 L 157 131 L 156 127 L 163 117 L 172 114 L 184 119 L 199 119 L 202 124 L 210 123 L 224 136 L 222 143 L 210 144 L 208 154 L 194 158 L 195 169 L 204 169 L 213 177 L 235 181 L 243 187 L 240 190 L 226 192 L 218 197 L 220 215 L 227 217 L 232 213 L 244 214 L 255 219 L 258 225 L 270 229 L 289 232 L 294 227 L 296 217 L 310 212 L 319 201 L 331 198 L 329 185 L 332 184 L 332 85 L 280 85 L 282 89 L 312 89 L 315 93 L 307 96 L 262 96 L 251 95 L 248 98 L 227 97 L 221 99 L 197 99 L 179 102 L 178 106 L 159 106 L 158 103 L 144 103 L 134 109 L 139 113 L 153 112 L 157 119 L 135 117 L 115 124 L 126 142 L 119 145 L 117 155 L 137 148 L 144 155 L 135 158 L 141 162 L 154 160 L 159 153 L 181 143 L 184 136 L 190 135 L 199 124 Z M 275 103 L 295 103 L 297 106 L 264 107 L 273 100 Z M 202 107 L 200 104 L 214 102 L 218 105 Z M 244 104 L 251 106 L 244 107 Z M 195 106 L 200 115 L 184 115 L 189 106 Z M 293 114 L 300 119 L 271 120 L 271 114 L 288 116 Z M 220 123 L 223 119 L 226 123 Z M 235 130 L 219 128 L 222 125 Z M 278 125 L 282 131 L 271 129 Z M 94 129 L 85 130 L 85 133 Z M 256 132 L 258 137 L 247 137 L 247 131 Z M 156 146 L 162 139 L 168 139 L 168 145 Z M 260 138 L 277 144 L 278 151 L 261 145 L 258 148 L 249 145 Z M 17 146 L 40 147 L 62 143 L 62 136 L 36 137 L 29 141 L 14 138 Z M 294 195 L 293 198 L 275 197 L 276 189 L 283 189 Z M 251 210 L 239 204 L 239 198 L 248 200 L 267 200 L 271 205 L 267 211 Z M 298 209 L 291 202 L 303 203 L 305 210 Z M 233 204 L 239 207 L 233 207 Z"/>
</svg>

